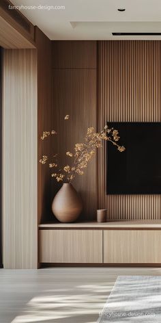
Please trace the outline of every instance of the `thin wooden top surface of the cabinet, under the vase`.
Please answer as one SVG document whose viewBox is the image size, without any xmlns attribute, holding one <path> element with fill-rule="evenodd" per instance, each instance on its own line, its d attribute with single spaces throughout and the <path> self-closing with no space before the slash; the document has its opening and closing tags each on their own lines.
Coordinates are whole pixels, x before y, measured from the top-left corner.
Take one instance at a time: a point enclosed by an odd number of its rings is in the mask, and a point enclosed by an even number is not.
<svg viewBox="0 0 161 323">
<path fill-rule="evenodd" d="M 39 228 L 54 228 L 54 229 L 86 229 L 86 228 L 96 228 L 96 229 L 111 229 L 111 228 L 161 228 L 161 220 L 120 220 L 120 221 L 113 221 L 113 222 L 74 222 L 74 223 L 60 223 L 60 222 L 53 222 L 53 223 L 44 223 L 39 224 Z"/>
</svg>

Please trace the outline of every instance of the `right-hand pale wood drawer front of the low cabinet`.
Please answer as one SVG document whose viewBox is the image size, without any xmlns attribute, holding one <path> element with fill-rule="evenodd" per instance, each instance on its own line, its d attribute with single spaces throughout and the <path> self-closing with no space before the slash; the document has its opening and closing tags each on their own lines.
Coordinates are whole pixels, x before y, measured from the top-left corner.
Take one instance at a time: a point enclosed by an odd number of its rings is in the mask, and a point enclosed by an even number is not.
<svg viewBox="0 0 161 323">
<path fill-rule="evenodd" d="M 104 263 L 161 263 L 160 230 L 104 231 Z"/>
</svg>

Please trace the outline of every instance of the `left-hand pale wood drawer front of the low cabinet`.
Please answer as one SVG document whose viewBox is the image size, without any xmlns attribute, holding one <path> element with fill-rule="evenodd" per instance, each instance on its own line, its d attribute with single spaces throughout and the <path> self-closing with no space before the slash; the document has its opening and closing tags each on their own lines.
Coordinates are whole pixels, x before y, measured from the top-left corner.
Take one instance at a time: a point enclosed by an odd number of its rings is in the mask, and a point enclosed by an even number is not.
<svg viewBox="0 0 161 323">
<path fill-rule="evenodd" d="M 41 263 L 102 263 L 102 231 L 40 230 Z"/>
</svg>

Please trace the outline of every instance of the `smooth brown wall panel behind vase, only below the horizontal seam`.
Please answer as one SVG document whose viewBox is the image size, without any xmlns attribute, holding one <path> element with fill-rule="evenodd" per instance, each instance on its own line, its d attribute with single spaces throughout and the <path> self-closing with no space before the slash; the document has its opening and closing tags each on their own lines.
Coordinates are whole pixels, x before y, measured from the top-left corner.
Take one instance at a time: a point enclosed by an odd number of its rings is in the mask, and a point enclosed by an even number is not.
<svg viewBox="0 0 161 323">
<path fill-rule="evenodd" d="M 59 153 L 64 166 L 71 163 L 70 157 L 65 156 L 66 151 L 73 152 L 74 145 L 83 142 L 88 127 L 96 129 L 96 78 L 96 69 L 53 69 L 53 125 L 58 135 L 53 138 L 52 151 Z M 64 120 L 66 114 L 70 115 L 69 120 Z M 53 185 L 55 187 L 54 179 Z M 73 185 L 83 200 L 83 218 L 96 218 L 96 157 Z"/>
</svg>

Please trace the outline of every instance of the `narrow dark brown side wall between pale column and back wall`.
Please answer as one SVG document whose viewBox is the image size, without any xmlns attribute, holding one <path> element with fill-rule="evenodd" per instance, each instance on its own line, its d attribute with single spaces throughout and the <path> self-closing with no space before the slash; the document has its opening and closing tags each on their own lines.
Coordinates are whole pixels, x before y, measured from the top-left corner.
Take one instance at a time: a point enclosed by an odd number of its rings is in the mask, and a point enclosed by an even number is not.
<svg viewBox="0 0 161 323">
<path fill-rule="evenodd" d="M 51 106 L 51 42 L 42 31 L 35 27 L 35 42 L 38 49 L 38 223 L 48 220 L 51 215 L 53 192 L 48 165 L 42 166 L 42 155 L 50 155 L 50 138 L 40 140 L 43 131 L 53 127 Z M 55 109 L 55 108 L 54 108 Z"/>
</svg>

